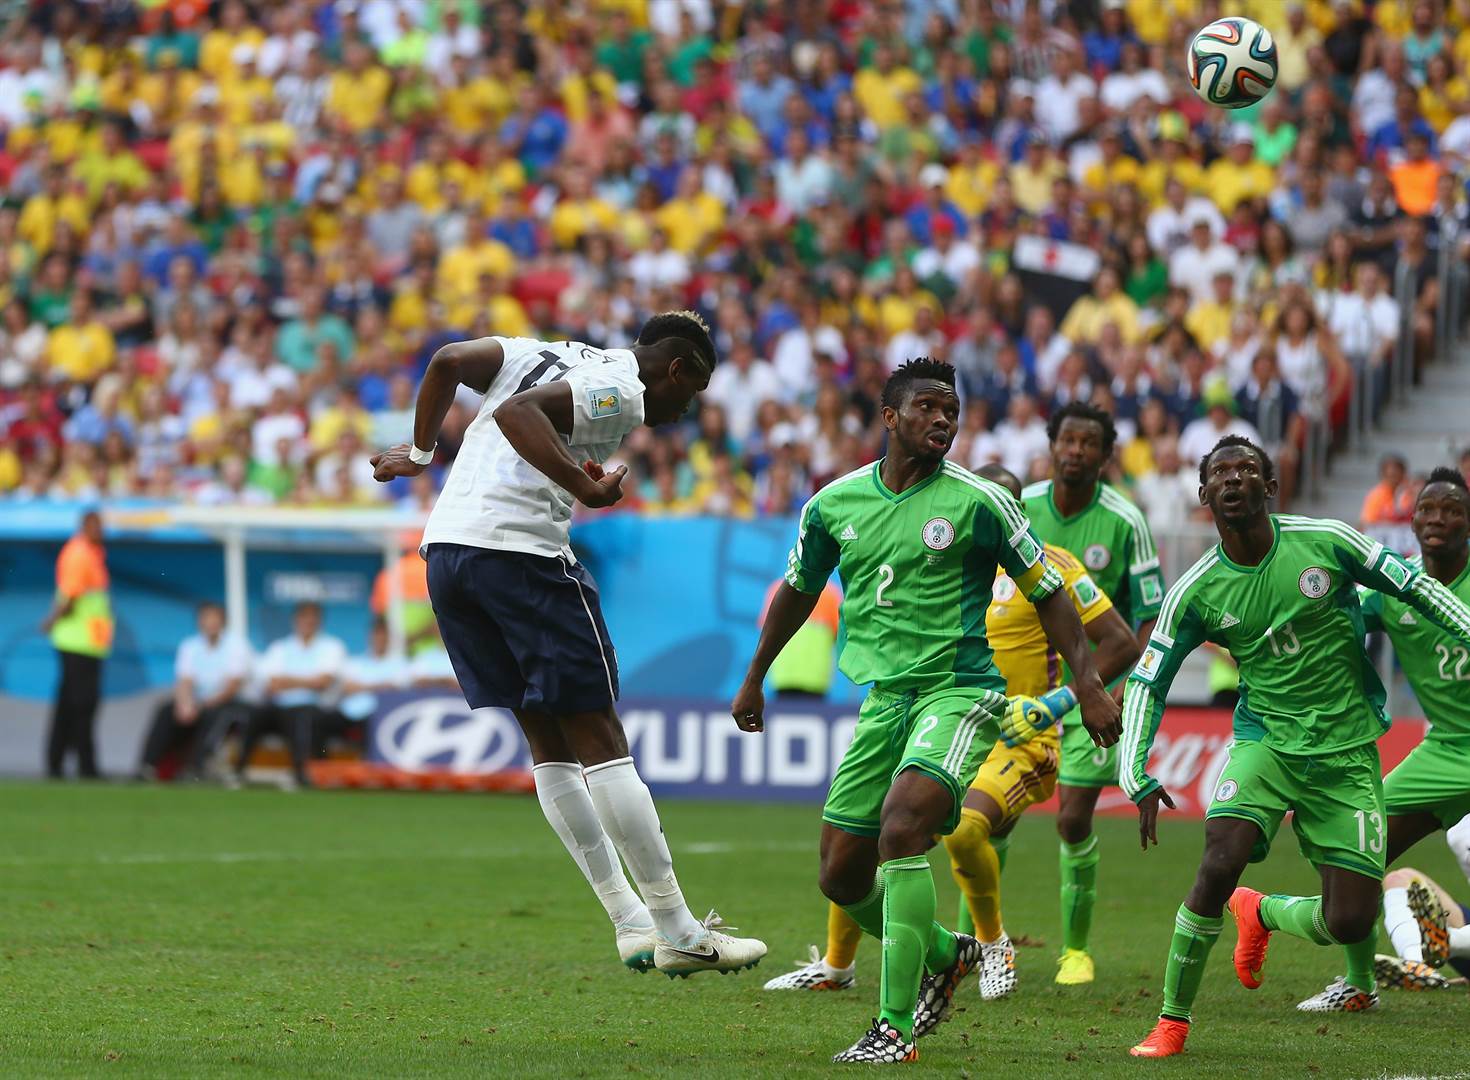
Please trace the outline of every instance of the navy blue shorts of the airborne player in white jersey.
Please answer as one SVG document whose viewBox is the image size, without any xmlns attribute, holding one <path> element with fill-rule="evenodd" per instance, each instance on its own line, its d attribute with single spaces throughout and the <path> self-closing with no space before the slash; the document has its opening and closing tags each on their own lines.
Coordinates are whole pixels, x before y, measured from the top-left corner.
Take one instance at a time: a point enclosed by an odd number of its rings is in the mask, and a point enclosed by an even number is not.
<svg viewBox="0 0 1470 1080">
<path fill-rule="evenodd" d="M 617 701 L 617 657 L 579 563 L 431 544 L 429 601 L 470 708 L 595 713 Z"/>
</svg>

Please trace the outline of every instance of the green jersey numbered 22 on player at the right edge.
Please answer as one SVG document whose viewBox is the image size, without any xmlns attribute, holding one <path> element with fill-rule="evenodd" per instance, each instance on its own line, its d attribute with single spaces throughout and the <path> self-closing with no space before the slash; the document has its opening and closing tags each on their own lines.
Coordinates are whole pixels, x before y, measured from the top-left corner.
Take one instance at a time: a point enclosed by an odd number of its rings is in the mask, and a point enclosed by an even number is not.
<svg viewBox="0 0 1470 1080">
<path fill-rule="evenodd" d="M 1416 572 L 1424 569 L 1420 555 L 1408 564 Z M 1470 566 L 1445 588 L 1470 605 Z M 1360 589 L 1358 595 L 1367 629 L 1383 630 L 1394 642 L 1408 685 L 1429 717 L 1429 738 L 1470 739 L 1470 649 L 1398 597 L 1367 589 Z"/>
</svg>

